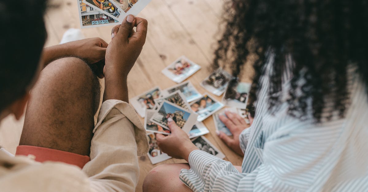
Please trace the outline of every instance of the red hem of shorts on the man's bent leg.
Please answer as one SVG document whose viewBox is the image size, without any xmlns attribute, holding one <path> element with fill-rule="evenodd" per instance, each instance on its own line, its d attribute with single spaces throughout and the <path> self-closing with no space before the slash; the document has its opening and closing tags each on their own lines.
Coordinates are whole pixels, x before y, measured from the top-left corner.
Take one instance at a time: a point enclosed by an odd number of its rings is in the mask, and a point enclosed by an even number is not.
<svg viewBox="0 0 368 192">
<path fill-rule="evenodd" d="M 83 166 L 91 160 L 89 156 L 85 155 L 29 145 L 20 145 L 17 147 L 17 152 L 15 152 L 15 155 L 28 156 L 29 154 L 34 155 L 36 157 L 35 160 L 39 162 L 59 161 L 71 165 L 76 165 L 80 168 L 83 168 Z"/>
</svg>

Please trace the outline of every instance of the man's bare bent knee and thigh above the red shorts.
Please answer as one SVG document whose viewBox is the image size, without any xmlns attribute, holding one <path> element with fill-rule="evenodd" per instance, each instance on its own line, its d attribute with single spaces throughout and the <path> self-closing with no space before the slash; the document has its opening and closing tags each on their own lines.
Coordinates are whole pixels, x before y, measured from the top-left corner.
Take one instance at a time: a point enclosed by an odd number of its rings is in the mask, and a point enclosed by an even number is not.
<svg viewBox="0 0 368 192">
<path fill-rule="evenodd" d="M 53 61 L 31 91 L 19 145 L 89 156 L 100 85 L 79 58 Z"/>
</svg>

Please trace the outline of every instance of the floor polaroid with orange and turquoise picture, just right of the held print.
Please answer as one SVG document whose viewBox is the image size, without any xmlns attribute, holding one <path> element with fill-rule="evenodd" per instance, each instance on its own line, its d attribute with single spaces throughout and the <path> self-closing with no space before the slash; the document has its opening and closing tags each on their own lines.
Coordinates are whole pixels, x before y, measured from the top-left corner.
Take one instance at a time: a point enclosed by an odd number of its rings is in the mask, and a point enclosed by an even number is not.
<svg viewBox="0 0 368 192">
<path fill-rule="evenodd" d="M 224 104 L 216 101 L 208 94 L 190 104 L 192 111 L 198 114 L 197 121 L 201 122 L 224 107 Z"/>
</svg>

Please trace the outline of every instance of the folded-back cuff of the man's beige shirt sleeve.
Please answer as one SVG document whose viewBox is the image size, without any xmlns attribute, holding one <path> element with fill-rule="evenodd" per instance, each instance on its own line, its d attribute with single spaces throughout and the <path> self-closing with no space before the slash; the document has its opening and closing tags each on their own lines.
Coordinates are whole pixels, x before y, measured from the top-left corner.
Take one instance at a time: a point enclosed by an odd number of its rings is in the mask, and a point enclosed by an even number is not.
<svg viewBox="0 0 368 192">
<path fill-rule="evenodd" d="M 134 108 L 127 102 L 116 99 L 109 99 L 103 102 L 98 114 L 97 124 L 93 129 L 93 133 L 96 132 L 98 127 L 104 122 L 105 118 L 114 108 L 119 110 L 121 114 L 123 114 L 126 118 L 128 118 L 129 121 L 132 122 L 134 126 L 135 141 L 137 142 L 137 155 L 145 155 L 149 150 L 146 129 L 144 128 L 142 122 L 139 120 L 139 117 Z"/>
</svg>

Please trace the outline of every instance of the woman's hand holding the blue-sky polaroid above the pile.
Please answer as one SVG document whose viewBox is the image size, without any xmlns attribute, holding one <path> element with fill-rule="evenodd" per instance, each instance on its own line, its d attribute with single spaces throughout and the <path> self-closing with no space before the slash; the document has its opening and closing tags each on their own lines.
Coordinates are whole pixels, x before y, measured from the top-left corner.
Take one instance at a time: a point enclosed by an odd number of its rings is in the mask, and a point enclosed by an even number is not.
<svg viewBox="0 0 368 192">
<path fill-rule="evenodd" d="M 160 149 L 171 157 L 188 161 L 189 154 L 198 148 L 190 141 L 188 134 L 181 130 L 174 121 L 169 121 L 167 125 L 171 130 L 171 135 L 156 134 Z"/>
</svg>

